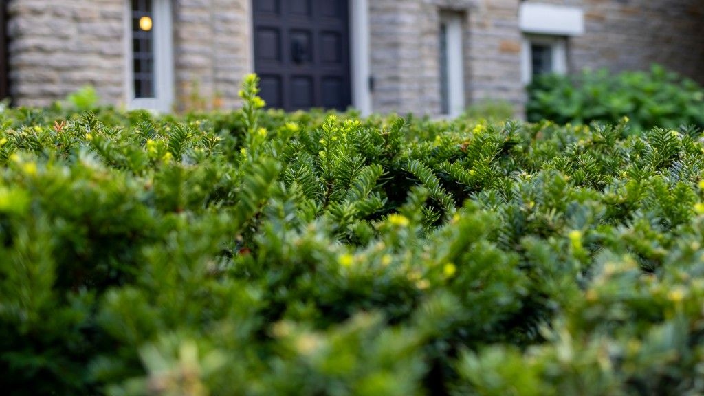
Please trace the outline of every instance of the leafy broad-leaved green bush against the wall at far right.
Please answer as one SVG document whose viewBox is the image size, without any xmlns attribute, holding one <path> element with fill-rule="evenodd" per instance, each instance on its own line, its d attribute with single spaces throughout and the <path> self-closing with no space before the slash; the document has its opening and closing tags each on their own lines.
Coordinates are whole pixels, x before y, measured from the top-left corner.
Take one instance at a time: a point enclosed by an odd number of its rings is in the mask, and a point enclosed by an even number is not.
<svg viewBox="0 0 704 396">
<path fill-rule="evenodd" d="M 556 123 L 617 123 L 631 119 L 636 131 L 704 127 L 704 89 L 661 66 L 650 72 L 612 75 L 586 70 L 579 75 L 546 75 L 529 87 L 528 118 Z"/>
</svg>

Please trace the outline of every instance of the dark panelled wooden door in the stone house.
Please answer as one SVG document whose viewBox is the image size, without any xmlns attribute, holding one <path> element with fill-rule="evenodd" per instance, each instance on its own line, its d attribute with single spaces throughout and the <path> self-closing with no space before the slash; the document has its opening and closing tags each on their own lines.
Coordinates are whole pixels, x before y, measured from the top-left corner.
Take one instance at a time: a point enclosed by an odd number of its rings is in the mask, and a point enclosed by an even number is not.
<svg viewBox="0 0 704 396">
<path fill-rule="evenodd" d="M 351 104 L 348 0 L 252 0 L 255 71 L 268 107 Z"/>
</svg>

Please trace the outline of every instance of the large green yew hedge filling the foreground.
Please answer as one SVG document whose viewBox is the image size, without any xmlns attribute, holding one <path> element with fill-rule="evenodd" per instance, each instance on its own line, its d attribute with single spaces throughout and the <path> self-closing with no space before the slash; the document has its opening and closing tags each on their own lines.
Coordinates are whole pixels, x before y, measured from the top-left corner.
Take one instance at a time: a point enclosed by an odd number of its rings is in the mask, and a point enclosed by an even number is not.
<svg viewBox="0 0 704 396">
<path fill-rule="evenodd" d="M 696 395 L 699 130 L 0 113 L 13 395 Z"/>
</svg>

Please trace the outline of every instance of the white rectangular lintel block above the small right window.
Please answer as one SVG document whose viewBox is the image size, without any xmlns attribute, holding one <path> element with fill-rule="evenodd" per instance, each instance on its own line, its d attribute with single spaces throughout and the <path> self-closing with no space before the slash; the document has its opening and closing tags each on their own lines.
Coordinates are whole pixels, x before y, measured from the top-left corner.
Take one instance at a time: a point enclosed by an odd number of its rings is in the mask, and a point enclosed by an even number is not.
<svg viewBox="0 0 704 396">
<path fill-rule="evenodd" d="M 519 11 L 521 30 L 539 35 L 584 35 L 584 11 L 579 7 L 522 3 Z"/>
</svg>

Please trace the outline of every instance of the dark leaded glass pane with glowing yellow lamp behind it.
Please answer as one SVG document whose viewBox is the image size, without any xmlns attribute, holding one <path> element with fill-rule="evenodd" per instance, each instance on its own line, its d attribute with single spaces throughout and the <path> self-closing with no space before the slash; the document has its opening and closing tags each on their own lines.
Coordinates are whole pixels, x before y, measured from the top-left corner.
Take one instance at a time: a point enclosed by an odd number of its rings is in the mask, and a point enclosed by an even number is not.
<svg viewBox="0 0 704 396">
<path fill-rule="evenodd" d="M 134 97 L 154 96 L 153 9 L 151 0 L 132 0 Z"/>
</svg>

